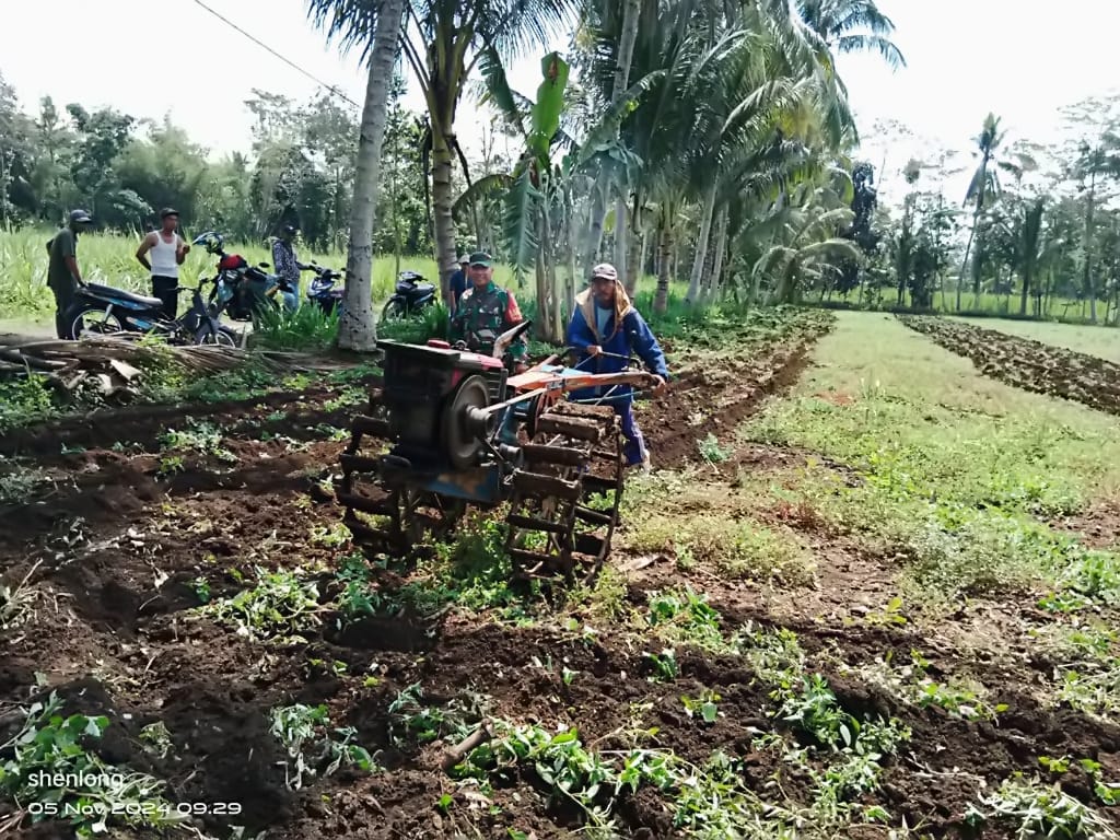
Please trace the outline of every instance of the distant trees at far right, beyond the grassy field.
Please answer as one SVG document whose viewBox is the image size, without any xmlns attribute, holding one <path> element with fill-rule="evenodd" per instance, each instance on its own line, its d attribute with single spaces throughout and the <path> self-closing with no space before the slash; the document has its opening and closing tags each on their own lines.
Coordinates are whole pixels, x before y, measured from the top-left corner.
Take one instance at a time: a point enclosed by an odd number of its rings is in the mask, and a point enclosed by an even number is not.
<svg viewBox="0 0 1120 840">
<path fill-rule="evenodd" d="M 1055 125 L 1061 139 L 1039 143 L 1009 137 L 1002 119 L 989 113 L 968 144 L 935 144 L 908 160 L 902 207 L 877 208 L 883 248 L 857 299 L 1116 325 L 1120 97 L 1072 103 Z M 972 160 L 962 162 L 965 152 Z M 961 172 L 968 186 L 952 194 L 946 179 Z M 820 291 L 847 298 L 853 288 Z"/>
</svg>

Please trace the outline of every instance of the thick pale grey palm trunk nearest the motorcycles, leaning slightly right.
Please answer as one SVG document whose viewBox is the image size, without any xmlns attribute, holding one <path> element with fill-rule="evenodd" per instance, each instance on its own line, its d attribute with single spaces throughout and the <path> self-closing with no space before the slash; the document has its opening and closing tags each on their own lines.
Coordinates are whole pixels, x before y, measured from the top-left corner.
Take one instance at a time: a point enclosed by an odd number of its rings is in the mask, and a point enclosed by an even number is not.
<svg viewBox="0 0 1120 840">
<path fill-rule="evenodd" d="M 381 183 L 381 147 L 385 139 L 389 87 L 396 60 L 404 0 L 384 0 L 370 52 L 370 74 L 362 108 L 362 128 L 354 167 L 354 202 L 351 205 L 349 253 L 346 256 L 346 300 L 338 324 L 338 346 L 360 352 L 376 346 L 373 310 L 373 225 Z"/>
</svg>

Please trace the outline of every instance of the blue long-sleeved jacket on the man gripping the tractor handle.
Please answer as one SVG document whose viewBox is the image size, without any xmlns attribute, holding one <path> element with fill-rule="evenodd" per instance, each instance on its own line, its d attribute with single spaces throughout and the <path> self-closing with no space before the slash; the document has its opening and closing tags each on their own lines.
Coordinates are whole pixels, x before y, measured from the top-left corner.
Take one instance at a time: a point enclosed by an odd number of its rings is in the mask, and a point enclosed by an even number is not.
<svg viewBox="0 0 1120 840">
<path fill-rule="evenodd" d="M 656 337 L 645 323 L 645 318 L 634 308 L 626 295 L 622 283 L 615 288 L 615 311 L 607 320 L 604 334 L 599 330 L 595 319 L 595 298 L 591 290 L 587 289 L 576 296 L 576 310 L 572 312 L 571 323 L 568 325 L 568 346 L 577 351 L 576 366 L 580 371 L 588 373 L 618 373 L 625 370 L 626 361 L 613 358 L 612 356 L 589 356 L 585 348 L 594 344 L 599 345 L 605 353 L 614 353 L 619 356 L 629 356 L 633 352 L 645 362 L 646 367 L 664 380 L 669 380 L 669 367 L 665 364 L 665 354 L 661 351 Z M 587 400 L 601 396 L 612 386 L 581 389 L 573 391 L 571 398 L 575 400 Z M 634 389 L 631 385 L 615 385 L 610 391 L 608 401 L 604 404 L 625 404 L 634 399 Z"/>
</svg>

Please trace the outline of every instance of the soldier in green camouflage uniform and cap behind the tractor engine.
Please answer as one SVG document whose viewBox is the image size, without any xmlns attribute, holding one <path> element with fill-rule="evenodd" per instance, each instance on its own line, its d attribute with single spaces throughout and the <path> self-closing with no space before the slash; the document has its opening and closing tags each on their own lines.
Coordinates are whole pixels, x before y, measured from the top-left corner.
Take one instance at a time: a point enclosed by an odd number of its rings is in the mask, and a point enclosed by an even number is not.
<svg viewBox="0 0 1120 840">
<path fill-rule="evenodd" d="M 470 254 L 467 273 L 470 286 L 459 298 L 455 315 L 451 316 L 449 340 L 465 342 L 474 353 L 489 355 L 494 342 L 502 333 L 524 320 L 513 292 L 494 282 L 491 255 L 477 251 Z M 523 336 L 519 336 L 507 351 L 514 362 L 514 373 L 525 370 L 525 354 L 529 347 Z"/>
</svg>

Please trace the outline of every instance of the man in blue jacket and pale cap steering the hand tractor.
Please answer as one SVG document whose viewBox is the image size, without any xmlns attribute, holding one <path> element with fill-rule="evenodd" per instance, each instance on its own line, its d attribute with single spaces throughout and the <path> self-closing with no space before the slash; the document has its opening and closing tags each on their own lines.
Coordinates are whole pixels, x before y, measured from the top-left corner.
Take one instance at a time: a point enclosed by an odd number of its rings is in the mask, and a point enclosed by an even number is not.
<svg viewBox="0 0 1120 840">
<path fill-rule="evenodd" d="M 589 373 L 618 373 L 626 367 L 633 353 L 657 376 L 654 394 L 664 391 L 669 379 L 665 354 L 650 325 L 631 304 L 618 272 L 609 263 L 596 265 L 591 270 L 590 288 L 576 296 L 576 309 L 568 325 L 568 346 L 580 352 L 577 365 Z M 576 400 L 604 395 L 622 419 L 626 464 L 642 465 L 643 470 L 648 470 L 650 452 L 634 420 L 634 393 L 629 385 L 585 389 L 571 394 Z"/>
</svg>

